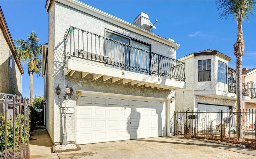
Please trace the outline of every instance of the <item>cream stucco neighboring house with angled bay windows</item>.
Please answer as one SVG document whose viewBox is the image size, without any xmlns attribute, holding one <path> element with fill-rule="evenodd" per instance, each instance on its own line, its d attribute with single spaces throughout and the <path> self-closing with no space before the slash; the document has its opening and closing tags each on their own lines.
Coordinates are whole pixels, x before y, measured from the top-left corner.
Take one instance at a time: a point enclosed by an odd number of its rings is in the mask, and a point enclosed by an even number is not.
<svg viewBox="0 0 256 159">
<path fill-rule="evenodd" d="M 230 57 L 217 50 L 191 53 L 178 60 L 186 63 L 187 87 L 176 91 L 177 110 L 233 110 L 236 106 L 236 70 Z M 243 83 L 243 101 L 249 101 Z"/>
</svg>

